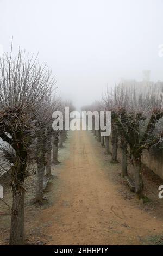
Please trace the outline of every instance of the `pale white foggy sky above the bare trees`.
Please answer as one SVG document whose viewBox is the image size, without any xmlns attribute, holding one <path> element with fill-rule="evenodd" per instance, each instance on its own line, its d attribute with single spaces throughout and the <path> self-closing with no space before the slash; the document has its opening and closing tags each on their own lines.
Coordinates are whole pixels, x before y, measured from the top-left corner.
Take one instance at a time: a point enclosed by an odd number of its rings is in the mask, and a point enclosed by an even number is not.
<svg viewBox="0 0 163 256">
<path fill-rule="evenodd" d="M 61 96 L 80 107 L 145 69 L 163 80 L 162 13 L 162 0 L 0 0 L 0 43 L 9 52 L 14 36 L 14 54 L 39 51 Z"/>
</svg>

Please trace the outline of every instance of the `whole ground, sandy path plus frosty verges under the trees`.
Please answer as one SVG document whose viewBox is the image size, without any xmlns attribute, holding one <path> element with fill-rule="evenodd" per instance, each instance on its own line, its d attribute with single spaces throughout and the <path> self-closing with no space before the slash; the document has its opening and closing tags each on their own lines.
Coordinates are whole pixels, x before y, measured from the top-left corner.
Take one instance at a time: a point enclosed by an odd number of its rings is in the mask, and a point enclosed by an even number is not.
<svg viewBox="0 0 163 256">
<path fill-rule="evenodd" d="M 59 151 L 61 164 L 45 205 L 35 206 L 27 193 L 26 243 L 47 245 L 161 244 L 161 180 L 144 170 L 147 203 L 141 205 L 120 176 L 121 164 L 110 163 L 105 148 L 90 131 L 69 133 Z M 162 182 L 163 183 L 163 182 Z M 150 189 L 149 189 L 150 188 Z M 6 196 L 7 197 L 7 196 Z M 0 243 L 8 243 L 10 215 L 1 209 Z"/>
</svg>

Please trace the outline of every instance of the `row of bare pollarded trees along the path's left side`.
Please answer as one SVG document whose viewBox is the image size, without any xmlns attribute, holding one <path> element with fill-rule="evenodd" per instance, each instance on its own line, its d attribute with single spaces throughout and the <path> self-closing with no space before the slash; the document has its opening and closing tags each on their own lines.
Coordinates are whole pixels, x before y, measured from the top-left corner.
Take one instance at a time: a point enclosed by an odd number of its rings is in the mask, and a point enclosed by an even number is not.
<svg viewBox="0 0 163 256">
<path fill-rule="evenodd" d="M 58 143 L 62 147 L 66 138 L 65 131 L 52 129 L 52 113 L 63 112 L 65 104 L 72 110 L 56 96 L 47 65 L 25 55 L 12 58 L 11 51 L 0 60 L 0 178 L 12 191 L 10 245 L 24 244 L 26 180 L 36 180 L 35 202 L 42 204 L 45 174 L 51 177 Z"/>
</svg>

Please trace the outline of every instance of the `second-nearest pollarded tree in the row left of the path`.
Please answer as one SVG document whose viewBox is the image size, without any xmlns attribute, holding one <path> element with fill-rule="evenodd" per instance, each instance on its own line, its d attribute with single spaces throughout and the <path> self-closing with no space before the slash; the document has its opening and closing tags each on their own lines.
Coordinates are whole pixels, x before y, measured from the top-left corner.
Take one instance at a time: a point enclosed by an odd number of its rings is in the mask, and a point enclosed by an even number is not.
<svg viewBox="0 0 163 256">
<path fill-rule="evenodd" d="M 37 139 L 35 160 L 37 163 L 37 189 L 35 202 L 43 204 L 43 179 L 45 169 L 47 176 L 51 177 L 51 149 L 52 149 L 52 109 L 51 91 L 47 94 L 43 102 L 42 112 L 36 120 Z"/>
</svg>

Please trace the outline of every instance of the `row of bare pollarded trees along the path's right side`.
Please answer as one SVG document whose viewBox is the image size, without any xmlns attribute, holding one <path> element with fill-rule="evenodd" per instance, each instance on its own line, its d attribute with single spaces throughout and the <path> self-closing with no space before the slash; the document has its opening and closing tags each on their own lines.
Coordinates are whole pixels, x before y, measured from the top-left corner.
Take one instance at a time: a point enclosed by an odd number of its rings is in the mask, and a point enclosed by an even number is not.
<svg viewBox="0 0 163 256">
<path fill-rule="evenodd" d="M 118 146 L 122 153 L 122 176 L 128 176 L 128 158 L 134 169 L 136 197 L 143 202 L 142 152 L 144 149 L 160 150 L 163 147 L 163 87 L 160 83 L 137 88 L 120 84 L 107 91 L 101 102 L 83 107 L 88 111 L 111 112 L 111 136 L 101 137 L 101 131 L 94 133 L 99 142 L 110 153 L 116 163 Z M 105 140 L 105 141 L 104 141 Z M 128 157 L 129 156 L 129 157 Z"/>
</svg>

